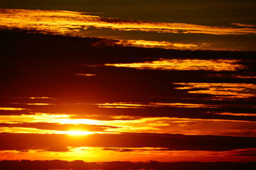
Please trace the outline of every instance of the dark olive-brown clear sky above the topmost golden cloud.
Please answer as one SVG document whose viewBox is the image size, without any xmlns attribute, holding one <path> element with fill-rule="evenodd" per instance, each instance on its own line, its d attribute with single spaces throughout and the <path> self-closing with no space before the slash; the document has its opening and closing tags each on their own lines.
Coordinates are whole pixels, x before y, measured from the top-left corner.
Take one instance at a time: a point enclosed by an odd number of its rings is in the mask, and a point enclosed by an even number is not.
<svg viewBox="0 0 256 170">
<path fill-rule="evenodd" d="M 256 24 L 255 5 L 255 1 L 239 0 L 2 0 L 0 8 L 88 11 L 105 17 L 223 25 L 233 22 Z"/>
</svg>

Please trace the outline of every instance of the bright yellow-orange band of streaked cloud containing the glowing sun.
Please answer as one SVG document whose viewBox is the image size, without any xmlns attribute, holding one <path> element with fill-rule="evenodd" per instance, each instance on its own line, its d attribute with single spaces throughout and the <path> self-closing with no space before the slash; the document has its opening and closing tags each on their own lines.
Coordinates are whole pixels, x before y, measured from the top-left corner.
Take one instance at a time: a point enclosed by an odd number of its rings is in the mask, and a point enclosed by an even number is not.
<svg viewBox="0 0 256 170">
<path fill-rule="evenodd" d="M 116 119 L 115 119 L 116 118 Z M 0 116 L 0 132 L 75 134 L 155 132 L 186 135 L 255 136 L 256 122 L 200 118 L 134 117 L 120 120 L 76 118 L 72 115 L 10 115 Z"/>
</svg>

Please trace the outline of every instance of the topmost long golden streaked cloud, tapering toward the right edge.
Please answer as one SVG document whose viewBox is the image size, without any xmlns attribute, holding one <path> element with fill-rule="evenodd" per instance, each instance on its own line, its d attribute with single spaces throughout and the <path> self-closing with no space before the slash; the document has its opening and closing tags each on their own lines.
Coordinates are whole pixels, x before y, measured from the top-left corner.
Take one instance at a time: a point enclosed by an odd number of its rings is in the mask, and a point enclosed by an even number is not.
<svg viewBox="0 0 256 170">
<path fill-rule="evenodd" d="M 86 15 L 82 12 L 57 10 L 1 10 L 1 26 L 19 29 L 36 29 L 42 32 L 67 34 L 88 27 L 123 31 L 153 31 L 215 35 L 255 34 L 255 28 L 207 26 L 186 23 L 142 22 Z M 75 33 L 76 34 L 76 33 Z M 79 35 L 79 34 L 77 34 Z"/>
</svg>

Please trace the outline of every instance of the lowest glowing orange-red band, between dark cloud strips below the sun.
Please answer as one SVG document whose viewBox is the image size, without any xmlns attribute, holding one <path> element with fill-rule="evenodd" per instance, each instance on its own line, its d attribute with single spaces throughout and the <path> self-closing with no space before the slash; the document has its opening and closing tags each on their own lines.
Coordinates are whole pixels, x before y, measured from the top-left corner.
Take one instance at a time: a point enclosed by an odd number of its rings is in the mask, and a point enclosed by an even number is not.
<svg viewBox="0 0 256 170">
<path fill-rule="evenodd" d="M 2 150 L 0 156 L 2 159 L 8 157 L 9 160 L 19 159 L 21 155 L 29 160 L 38 159 L 61 159 L 61 160 L 77 160 L 82 159 L 88 162 L 99 162 L 104 159 L 105 161 L 170 161 L 173 162 L 187 160 L 196 161 L 234 161 L 241 160 L 239 153 L 255 153 L 253 149 L 243 150 L 230 150 L 230 151 L 196 151 L 196 150 L 170 150 L 168 148 L 154 148 L 154 147 L 141 147 L 141 148 L 110 148 L 110 147 L 68 147 L 66 152 L 49 152 L 47 150 Z M 233 154 L 233 155 L 232 155 Z M 90 155 L 90 156 L 88 156 Z M 254 160 L 253 157 L 244 157 L 242 160 Z M 92 164 L 92 163 L 91 163 Z M 101 163 L 103 164 L 103 163 Z M 119 163 L 120 164 L 120 163 Z M 156 164 L 156 163 L 155 163 Z M 56 165 L 55 165 L 56 166 Z M 127 165 L 126 165 L 127 166 Z"/>
</svg>

